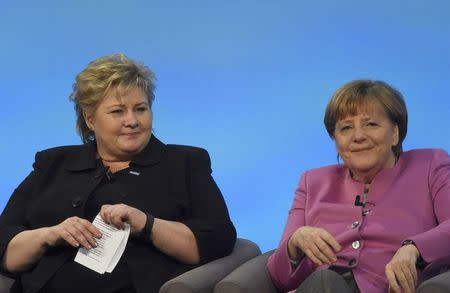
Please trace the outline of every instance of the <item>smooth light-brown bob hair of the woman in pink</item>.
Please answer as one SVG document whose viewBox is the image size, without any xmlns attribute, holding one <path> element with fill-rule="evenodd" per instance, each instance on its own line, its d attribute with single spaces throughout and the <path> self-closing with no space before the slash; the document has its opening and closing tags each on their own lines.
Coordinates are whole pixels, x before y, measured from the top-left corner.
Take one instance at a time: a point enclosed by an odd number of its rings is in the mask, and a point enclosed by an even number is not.
<svg viewBox="0 0 450 293">
<path fill-rule="evenodd" d="M 323 122 L 328 135 L 334 139 L 336 123 L 339 120 L 349 115 L 357 115 L 361 107 L 371 103 L 380 105 L 388 119 L 398 126 L 399 141 L 392 147 L 398 158 L 408 130 L 408 112 L 402 94 L 383 81 L 354 80 L 339 88 L 325 110 Z"/>
</svg>

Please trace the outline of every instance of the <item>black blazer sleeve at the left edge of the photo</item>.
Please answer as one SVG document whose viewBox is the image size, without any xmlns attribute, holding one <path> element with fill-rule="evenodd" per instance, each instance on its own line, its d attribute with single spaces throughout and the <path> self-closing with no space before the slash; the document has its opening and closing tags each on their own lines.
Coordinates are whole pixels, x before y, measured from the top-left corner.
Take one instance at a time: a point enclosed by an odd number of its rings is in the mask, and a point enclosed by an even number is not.
<svg viewBox="0 0 450 293">
<path fill-rule="evenodd" d="M 6 248 L 14 236 L 29 229 L 26 221 L 28 201 L 34 187 L 44 173 L 46 158 L 43 153 L 37 153 L 33 170 L 24 181 L 14 190 L 5 209 L 0 216 L 0 259 L 3 259 Z M 3 271 L 3 266 L 2 272 Z"/>
</svg>

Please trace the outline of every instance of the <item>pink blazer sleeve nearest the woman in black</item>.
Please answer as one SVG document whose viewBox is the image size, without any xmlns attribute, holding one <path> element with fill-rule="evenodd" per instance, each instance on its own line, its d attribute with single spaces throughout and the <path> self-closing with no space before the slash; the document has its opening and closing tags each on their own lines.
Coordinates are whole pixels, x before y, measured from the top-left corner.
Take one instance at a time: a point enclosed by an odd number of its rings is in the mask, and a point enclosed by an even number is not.
<svg viewBox="0 0 450 293">
<path fill-rule="evenodd" d="M 294 290 L 314 270 L 309 258 L 303 257 L 294 268 L 289 261 L 288 241 L 292 234 L 305 225 L 305 207 L 307 201 L 307 175 L 305 172 L 295 190 L 295 197 L 281 236 L 277 250 L 270 256 L 267 268 L 275 286 L 283 292 Z"/>
</svg>

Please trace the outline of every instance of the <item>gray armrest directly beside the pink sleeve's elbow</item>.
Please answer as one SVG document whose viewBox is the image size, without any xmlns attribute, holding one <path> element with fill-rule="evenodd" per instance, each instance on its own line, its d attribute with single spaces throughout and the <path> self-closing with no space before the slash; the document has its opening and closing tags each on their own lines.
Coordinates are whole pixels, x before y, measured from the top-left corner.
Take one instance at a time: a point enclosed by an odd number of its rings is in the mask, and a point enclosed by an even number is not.
<svg viewBox="0 0 450 293">
<path fill-rule="evenodd" d="M 277 293 L 267 270 L 267 259 L 275 250 L 255 257 L 220 281 L 214 293 Z"/>
</svg>

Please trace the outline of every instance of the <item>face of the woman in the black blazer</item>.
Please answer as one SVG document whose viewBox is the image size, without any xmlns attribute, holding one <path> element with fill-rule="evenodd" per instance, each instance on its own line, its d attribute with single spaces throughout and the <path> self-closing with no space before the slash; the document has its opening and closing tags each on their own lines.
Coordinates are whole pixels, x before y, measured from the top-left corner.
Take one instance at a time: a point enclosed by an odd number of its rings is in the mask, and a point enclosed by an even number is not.
<svg viewBox="0 0 450 293">
<path fill-rule="evenodd" d="M 84 113 L 84 118 L 105 160 L 131 160 L 150 140 L 152 113 L 147 96 L 138 87 L 128 91 L 112 89 L 97 110 Z"/>
</svg>

